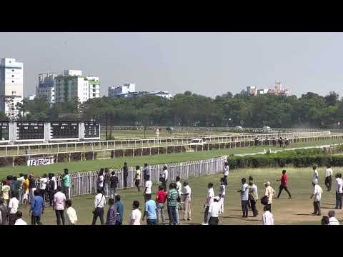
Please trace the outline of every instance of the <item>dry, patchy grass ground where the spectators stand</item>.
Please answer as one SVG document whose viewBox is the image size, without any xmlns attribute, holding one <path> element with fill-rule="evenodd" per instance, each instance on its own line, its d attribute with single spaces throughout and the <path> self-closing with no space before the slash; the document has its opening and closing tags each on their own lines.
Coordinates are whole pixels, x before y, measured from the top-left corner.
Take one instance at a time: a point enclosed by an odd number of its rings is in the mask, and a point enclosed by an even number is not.
<svg viewBox="0 0 343 257">
<path fill-rule="evenodd" d="M 333 168 L 334 173 L 343 172 L 343 168 Z M 311 168 L 288 168 L 287 174 L 289 176 L 289 191 L 292 193 L 292 199 L 288 199 L 287 193 L 282 192 L 279 199 L 274 198 L 272 203 L 272 213 L 274 214 L 275 224 L 320 224 L 321 216 L 312 216 L 313 202 L 309 199 L 313 188 L 311 185 Z M 327 192 L 324 186 L 324 168 L 319 168 L 319 184 L 323 188 L 322 195 L 322 215 L 327 215 L 329 210 L 332 210 L 335 205 L 334 191 Z M 203 222 L 204 208 L 202 207 L 207 195 L 207 183 L 214 183 L 214 192 L 217 195 L 219 191 L 219 178 L 221 173 L 213 176 L 204 176 L 198 178 L 187 179 L 189 185 L 192 187 L 192 221 L 181 221 L 182 224 L 200 224 Z M 241 186 L 240 180 L 242 177 L 248 178 L 253 176 L 255 183 L 257 183 L 259 198 L 264 193 L 264 181 L 270 181 L 272 187 L 278 192 L 279 182 L 277 178 L 281 176 L 281 168 L 257 168 L 257 169 L 241 169 L 232 170 L 229 173 L 227 197 L 224 201 L 224 214 L 219 217 L 219 224 L 234 224 L 234 225 L 258 225 L 261 224 L 263 208 L 261 204 L 257 203 L 259 216 L 252 217 L 252 211 L 249 211 L 249 218 L 242 218 L 242 208 L 239 193 L 237 190 Z M 153 198 L 155 197 L 157 185 L 153 186 Z M 333 184 L 334 188 L 334 184 Z M 141 188 L 143 190 L 143 188 Z M 138 200 L 141 203 L 141 211 L 144 209 L 143 192 L 137 193 L 136 189 L 130 188 L 120 190 L 119 195 L 124 203 L 124 224 L 129 222 L 129 213 L 131 211 L 132 201 Z M 94 208 L 94 195 L 86 195 L 73 198 L 73 206 L 79 217 L 79 224 L 91 224 L 92 209 Z M 20 208 L 24 213 L 24 220 L 31 222 L 29 217 L 29 207 Z M 106 218 L 105 210 L 105 218 Z M 336 210 L 337 218 L 343 222 L 343 211 Z M 183 213 L 180 211 L 180 217 Z M 167 216 L 167 214 L 166 214 Z M 56 224 L 56 218 L 52 208 L 47 208 L 41 221 L 44 224 Z M 99 220 L 97 221 L 99 223 Z M 141 222 L 145 224 L 145 222 Z"/>
</svg>

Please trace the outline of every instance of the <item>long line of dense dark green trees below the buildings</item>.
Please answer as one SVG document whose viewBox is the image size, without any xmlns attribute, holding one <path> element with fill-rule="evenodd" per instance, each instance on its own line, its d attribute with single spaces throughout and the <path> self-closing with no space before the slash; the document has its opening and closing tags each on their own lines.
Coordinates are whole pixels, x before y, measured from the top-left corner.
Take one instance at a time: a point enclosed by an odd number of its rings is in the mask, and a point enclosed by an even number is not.
<svg viewBox="0 0 343 257">
<path fill-rule="evenodd" d="M 71 101 L 50 107 L 44 98 L 25 99 L 19 104 L 19 119 L 60 121 L 94 119 L 113 126 L 243 126 L 319 128 L 343 123 L 343 101 L 308 92 L 297 96 L 233 95 L 214 99 L 190 91 L 172 99 L 141 96 L 137 99 L 101 97 L 83 104 Z M 0 114 L 4 118 L 4 114 Z"/>
</svg>

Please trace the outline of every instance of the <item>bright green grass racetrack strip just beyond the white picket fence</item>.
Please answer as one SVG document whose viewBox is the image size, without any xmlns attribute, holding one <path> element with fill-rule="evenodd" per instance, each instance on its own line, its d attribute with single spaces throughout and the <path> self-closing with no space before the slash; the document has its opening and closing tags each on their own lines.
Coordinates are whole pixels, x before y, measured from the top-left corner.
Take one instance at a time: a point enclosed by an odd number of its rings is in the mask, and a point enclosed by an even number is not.
<svg viewBox="0 0 343 257">
<path fill-rule="evenodd" d="M 329 143 L 342 143 L 342 141 L 312 141 L 307 143 L 292 143 L 289 148 L 305 147 L 305 146 L 319 146 Z M 79 171 L 97 171 L 101 167 L 114 167 L 119 168 L 124 164 L 124 161 L 129 166 L 143 166 L 144 163 L 159 164 L 159 163 L 175 163 L 182 161 L 195 161 L 213 158 L 214 156 L 224 156 L 229 154 L 239 153 L 257 153 L 264 150 L 264 148 L 271 148 L 272 150 L 278 150 L 279 147 L 272 146 L 252 146 L 242 148 L 227 148 L 213 151 L 198 151 L 193 153 L 170 153 L 170 154 L 159 154 L 154 156 L 141 156 L 141 157 L 125 157 L 125 158 L 114 158 L 94 161 L 74 161 L 65 163 L 56 163 L 48 166 L 7 166 L 0 168 L 0 178 L 7 175 L 18 176 L 19 173 L 33 172 L 35 176 L 41 176 L 44 173 L 60 173 L 64 168 L 69 168 L 69 172 Z"/>
</svg>

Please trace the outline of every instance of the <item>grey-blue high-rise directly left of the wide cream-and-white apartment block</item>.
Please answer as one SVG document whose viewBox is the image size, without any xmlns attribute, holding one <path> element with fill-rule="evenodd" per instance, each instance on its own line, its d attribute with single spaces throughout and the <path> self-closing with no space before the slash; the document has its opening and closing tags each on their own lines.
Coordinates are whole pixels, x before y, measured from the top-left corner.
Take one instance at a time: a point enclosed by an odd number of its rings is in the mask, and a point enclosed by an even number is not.
<svg viewBox="0 0 343 257">
<path fill-rule="evenodd" d="M 50 106 L 55 103 L 55 88 L 54 80 L 56 74 L 49 72 L 47 74 L 38 75 L 38 85 L 36 86 L 36 96 L 37 97 L 46 97 L 46 101 Z"/>
</svg>

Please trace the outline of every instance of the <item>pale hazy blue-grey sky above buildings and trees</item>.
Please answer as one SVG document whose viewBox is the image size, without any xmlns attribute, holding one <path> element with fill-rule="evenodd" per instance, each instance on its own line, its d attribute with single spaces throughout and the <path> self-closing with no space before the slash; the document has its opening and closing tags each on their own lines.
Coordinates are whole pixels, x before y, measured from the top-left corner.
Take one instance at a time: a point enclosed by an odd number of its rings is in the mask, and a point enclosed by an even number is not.
<svg viewBox="0 0 343 257">
<path fill-rule="evenodd" d="M 343 96 L 342 33 L 0 33 L 0 57 L 24 62 L 25 96 L 64 69 L 99 76 L 101 95 L 125 82 L 214 97 L 282 81 L 298 96 Z"/>
</svg>

